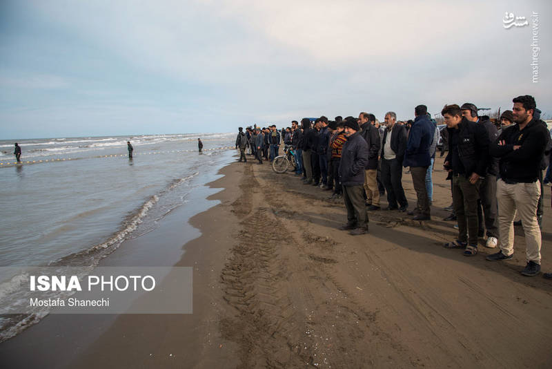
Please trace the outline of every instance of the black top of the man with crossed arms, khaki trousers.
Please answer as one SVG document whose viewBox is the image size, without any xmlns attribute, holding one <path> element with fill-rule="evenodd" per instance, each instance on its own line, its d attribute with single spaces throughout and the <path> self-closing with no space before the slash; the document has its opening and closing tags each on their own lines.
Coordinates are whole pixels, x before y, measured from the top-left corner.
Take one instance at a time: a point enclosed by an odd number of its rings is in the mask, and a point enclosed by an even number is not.
<svg viewBox="0 0 552 369">
<path fill-rule="evenodd" d="M 519 124 L 502 130 L 498 140 L 491 144 L 491 155 L 500 158 L 500 178 L 505 182 L 535 182 L 539 178 L 540 163 L 549 132 L 538 120 L 531 120 L 520 131 Z M 504 140 L 504 145 L 498 142 Z M 520 145 L 517 150 L 514 145 Z"/>
</svg>

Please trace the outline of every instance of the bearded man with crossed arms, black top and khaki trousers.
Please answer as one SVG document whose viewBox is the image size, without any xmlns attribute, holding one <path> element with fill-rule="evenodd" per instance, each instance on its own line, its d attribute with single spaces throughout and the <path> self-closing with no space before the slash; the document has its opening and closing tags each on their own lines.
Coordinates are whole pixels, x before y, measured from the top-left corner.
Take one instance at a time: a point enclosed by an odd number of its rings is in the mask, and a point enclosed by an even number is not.
<svg viewBox="0 0 552 369">
<path fill-rule="evenodd" d="M 515 124 L 504 129 L 490 149 L 491 155 L 500 158 L 500 179 L 497 181 L 500 252 L 486 259 L 502 261 L 513 257 L 513 218 L 517 212 L 525 232 L 527 264 L 521 272 L 524 276 L 536 276 L 540 272 L 542 240 L 537 220 L 538 178 L 549 133 L 540 121 L 533 118 L 536 108 L 533 96 L 515 97 L 512 109 Z"/>
</svg>

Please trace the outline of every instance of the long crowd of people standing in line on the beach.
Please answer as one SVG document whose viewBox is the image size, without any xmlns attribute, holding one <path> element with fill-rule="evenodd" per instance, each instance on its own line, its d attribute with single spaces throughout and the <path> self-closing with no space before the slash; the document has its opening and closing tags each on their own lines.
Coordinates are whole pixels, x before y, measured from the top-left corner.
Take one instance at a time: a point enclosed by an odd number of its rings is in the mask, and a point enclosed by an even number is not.
<svg viewBox="0 0 552 369">
<path fill-rule="evenodd" d="M 488 261 L 513 257 L 514 220 L 520 218 L 526 241 L 525 276 L 540 273 L 542 243 L 543 182 L 550 181 L 551 133 L 540 120 L 535 99 L 522 95 L 513 99 L 512 111 L 504 111 L 496 124 L 479 117 L 477 106 L 466 103 L 444 106 L 446 127 L 437 129 L 425 105 L 414 109 L 414 120 L 397 121 L 388 111 L 384 123 L 362 112 L 358 117 L 304 118 L 277 130 L 240 127 L 236 147 L 239 161 L 246 151 L 259 164 L 274 160 L 282 144 L 295 156 L 295 175 L 304 185 L 332 191 L 342 198 L 347 222 L 340 227 L 357 236 L 368 232 L 368 212 L 380 211 L 380 196 L 386 193 L 388 211 L 408 211 L 402 185 L 403 168 L 412 176 L 416 204 L 408 215 L 413 220 L 431 220 L 433 164 L 437 142 L 451 181 L 452 213 L 458 236 L 445 243 L 448 249 L 462 249 L 475 256 L 480 239 L 489 248 L 500 247 Z M 485 237 L 486 236 L 486 237 Z M 552 274 L 544 274 L 551 278 Z"/>
</svg>

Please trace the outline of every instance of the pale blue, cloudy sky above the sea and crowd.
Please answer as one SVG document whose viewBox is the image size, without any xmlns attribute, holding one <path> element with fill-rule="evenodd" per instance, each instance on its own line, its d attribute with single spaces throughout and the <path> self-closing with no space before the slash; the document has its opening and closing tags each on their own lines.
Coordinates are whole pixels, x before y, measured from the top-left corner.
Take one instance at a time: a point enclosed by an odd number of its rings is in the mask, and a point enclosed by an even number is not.
<svg viewBox="0 0 552 369">
<path fill-rule="evenodd" d="M 504 111 L 518 95 L 533 95 L 550 119 L 551 10 L 551 1 L 1 0 L 0 139 L 232 132 L 361 111 L 408 120 L 418 104 L 432 115 L 464 102 Z M 529 24 L 512 25 L 510 13 Z"/>
</svg>

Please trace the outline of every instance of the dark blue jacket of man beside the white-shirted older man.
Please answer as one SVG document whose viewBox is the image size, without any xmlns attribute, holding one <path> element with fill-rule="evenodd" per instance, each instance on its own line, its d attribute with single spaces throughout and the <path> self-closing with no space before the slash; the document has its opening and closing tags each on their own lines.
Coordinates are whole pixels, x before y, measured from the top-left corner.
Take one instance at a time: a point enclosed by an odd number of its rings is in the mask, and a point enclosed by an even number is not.
<svg viewBox="0 0 552 369">
<path fill-rule="evenodd" d="M 410 133 L 408 133 L 408 143 L 404 153 L 404 167 L 429 167 L 431 164 L 429 146 L 431 146 L 434 131 L 435 126 L 433 126 L 427 115 L 416 117 Z"/>
</svg>

